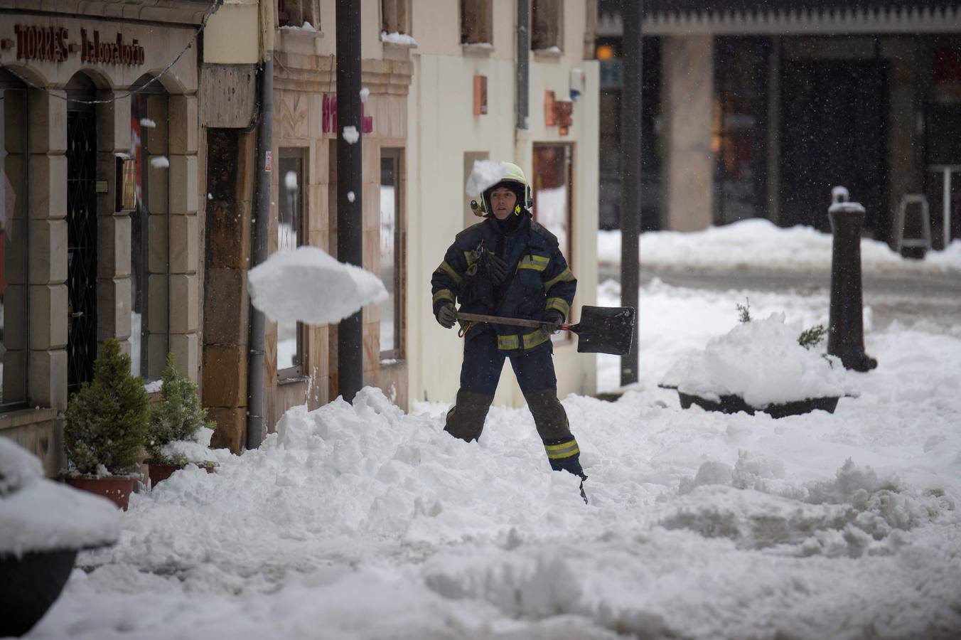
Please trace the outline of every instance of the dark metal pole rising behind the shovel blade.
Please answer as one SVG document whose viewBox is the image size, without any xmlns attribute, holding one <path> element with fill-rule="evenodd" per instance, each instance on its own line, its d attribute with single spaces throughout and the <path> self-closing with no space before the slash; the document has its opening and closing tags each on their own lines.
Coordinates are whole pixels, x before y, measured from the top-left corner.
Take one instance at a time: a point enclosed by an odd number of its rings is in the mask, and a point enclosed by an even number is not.
<svg viewBox="0 0 961 640">
<path fill-rule="evenodd" d="M 638 237 L 641 233 L 641 23 L 642 0 L 624 3 L 621 88 L 621 306 L 637 308 Z M 621 385 L 637 382 L 637 339 L 621 357 Z"/>
</svg>

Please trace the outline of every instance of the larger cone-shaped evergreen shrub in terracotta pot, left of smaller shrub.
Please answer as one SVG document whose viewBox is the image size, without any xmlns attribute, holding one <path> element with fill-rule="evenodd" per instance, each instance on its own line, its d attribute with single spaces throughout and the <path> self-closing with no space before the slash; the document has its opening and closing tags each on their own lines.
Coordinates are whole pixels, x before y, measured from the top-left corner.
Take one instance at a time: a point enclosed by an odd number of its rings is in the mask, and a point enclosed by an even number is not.
<svg viewBox="0 0 961 640">
<path fill-rule="evenodd" d="M 105 340 L 85 382 L 66 408 L 63 445 L 68 468 L 63 480 L 127 508 L 136 467 L 143 455 L 150 400 L 131 374 L 130 356 L 115 338 Z"/>
</svg>

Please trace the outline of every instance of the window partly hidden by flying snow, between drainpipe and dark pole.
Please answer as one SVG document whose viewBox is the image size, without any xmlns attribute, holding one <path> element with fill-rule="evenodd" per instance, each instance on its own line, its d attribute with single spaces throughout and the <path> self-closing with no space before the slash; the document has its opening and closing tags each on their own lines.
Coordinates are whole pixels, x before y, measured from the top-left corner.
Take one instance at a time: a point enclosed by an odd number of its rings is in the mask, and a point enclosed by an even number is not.
<svg viewBox="0 0 961 640">
<path fill-rule="evenodd" d="M 293 251 L 304 244 L 304 150 L 281 149 L 277 219 L 277 250 Z M 304 326 L 277 323 L 277 377 L 296 378 L 304 373 Z"/>
</svg>

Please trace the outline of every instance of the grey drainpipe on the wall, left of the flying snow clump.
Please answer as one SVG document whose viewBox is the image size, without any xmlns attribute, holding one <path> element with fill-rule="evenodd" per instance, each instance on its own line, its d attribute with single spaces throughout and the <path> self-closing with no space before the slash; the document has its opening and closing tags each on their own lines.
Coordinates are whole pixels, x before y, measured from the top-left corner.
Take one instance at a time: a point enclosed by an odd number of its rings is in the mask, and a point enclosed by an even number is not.
<svg viewBox="0 0 961 640">
<path fill-rule="evenodd" d="M 254 209 L 254 237 L 251 238 L 250 268 L 267 259 L 270 234 L 270 171 L 268 158 L 274 145 L 274 57 L 268 51 L 260 70 L 260 123 L 257 129 L 257 203 Z M 250 306 L 250 344 L 247 354 L 247 449 L 263 441 L 264 330 L 263 312 Z"/>
</svg>

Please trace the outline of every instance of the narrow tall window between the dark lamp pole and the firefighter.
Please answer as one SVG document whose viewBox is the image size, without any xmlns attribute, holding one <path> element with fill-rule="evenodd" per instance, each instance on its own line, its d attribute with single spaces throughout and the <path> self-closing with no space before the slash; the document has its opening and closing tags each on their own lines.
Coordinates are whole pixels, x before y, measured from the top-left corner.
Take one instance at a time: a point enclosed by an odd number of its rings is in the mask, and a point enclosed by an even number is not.
<svg viewBox="0 0 961 640">
<path fill-rule="evenodd" d="M 401 357 L 401 151 L 381 150 L 381 359 Z"/>
</svg>

